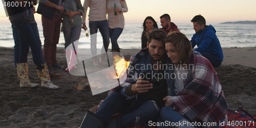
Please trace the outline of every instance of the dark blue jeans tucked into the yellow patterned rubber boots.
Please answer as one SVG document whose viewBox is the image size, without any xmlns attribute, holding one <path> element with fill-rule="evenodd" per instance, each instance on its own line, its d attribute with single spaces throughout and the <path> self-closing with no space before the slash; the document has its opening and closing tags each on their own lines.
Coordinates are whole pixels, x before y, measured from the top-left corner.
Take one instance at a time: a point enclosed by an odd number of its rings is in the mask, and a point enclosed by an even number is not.
<svg viewBox="0 0 256 128">
<path fill-rule="evenodd" d="M 42 55 L 41 40 L 37 29 L 36 22 L 30 23 L 19 21 L 12 24 L 14 39 L 14 62 L 27 62 L 29 48 L 35 65 L 44 63 Z"/>
</svg>

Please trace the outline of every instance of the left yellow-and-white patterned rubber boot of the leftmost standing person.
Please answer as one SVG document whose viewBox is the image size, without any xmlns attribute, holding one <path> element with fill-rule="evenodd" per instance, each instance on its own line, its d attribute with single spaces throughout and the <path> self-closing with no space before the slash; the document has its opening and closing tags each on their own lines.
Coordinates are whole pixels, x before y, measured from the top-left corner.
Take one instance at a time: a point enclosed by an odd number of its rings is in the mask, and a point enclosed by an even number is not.
<svg viewBox="0 0 256 128">
<path fill-rule="evenodd" d="M 29 79 L 28 63 L 17 63 L 17 74 L 20 88 L 37 88 L 39 84 L 32 83 Z"/>
</svg>

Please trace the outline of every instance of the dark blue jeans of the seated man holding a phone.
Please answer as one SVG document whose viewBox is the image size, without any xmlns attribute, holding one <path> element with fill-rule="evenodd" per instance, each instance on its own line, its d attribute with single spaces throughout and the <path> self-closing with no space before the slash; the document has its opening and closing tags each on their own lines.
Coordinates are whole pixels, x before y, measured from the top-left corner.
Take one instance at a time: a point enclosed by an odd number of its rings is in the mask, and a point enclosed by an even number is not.
<svg viewBox="0 0 256 128">
<path fill-rule="evenodd" d="M 108 121 L 114 112 L 123 115 L 121 127 L 134 126 L 136 116 L 140 116 L 140 123 L 156 120 L 159 115 L 159 107 L 155 101 L 150 101 L 144 96 L 125 100 L 121 94 L 112 92 L 105 98 L 96 114 Z"/>
</svg>

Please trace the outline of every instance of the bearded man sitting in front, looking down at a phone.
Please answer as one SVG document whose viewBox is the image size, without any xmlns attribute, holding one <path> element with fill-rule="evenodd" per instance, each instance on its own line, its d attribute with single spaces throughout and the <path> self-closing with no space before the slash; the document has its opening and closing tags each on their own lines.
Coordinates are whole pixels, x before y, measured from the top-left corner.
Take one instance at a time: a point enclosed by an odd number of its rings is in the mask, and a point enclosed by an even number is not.
<svg viewBox="0 0 256 128">
<path fill-rule="evenodd" d="M 147 48 L 133 55 L 127 68 L 127 79 L 121 82 L 114 92 L 99 106 L 96 113 L 88 111 L 80 125 L 84 127 L 129 127 L 134 126 L 136 116 L 139 123 L 156 120 L 159 111 L 164 106 L 163 97 L 167 96 L 167 87 L 174 88 L 170 76 L 173 70 L 167 70 L 173 65 L 167 57 L 164 47 L 166 33 L 163 30 L 153 30 L 147 34 Z M 167 65 L 163 65 L 167 63 Z M 142 72 L 155 74 L 152 81 L 142 80 Z M 160 76 L 161 78 L 157 77 Z M 158 79 L 159 78 L 159 79 Z M 174 90 L 173 90 L 174 93 Z M 114 112 L 122 117 L 109 121 Z"/>
</svg>

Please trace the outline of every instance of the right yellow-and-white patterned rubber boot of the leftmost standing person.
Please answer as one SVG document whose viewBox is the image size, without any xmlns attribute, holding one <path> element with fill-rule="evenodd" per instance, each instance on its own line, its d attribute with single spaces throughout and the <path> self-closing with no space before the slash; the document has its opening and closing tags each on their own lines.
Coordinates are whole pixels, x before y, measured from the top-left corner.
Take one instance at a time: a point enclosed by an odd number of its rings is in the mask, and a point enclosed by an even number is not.
<svg viewBox="0 0 256 128">
<path fill-rule="evenodd" d="M 49 76 L 49 71 L 46 63 L 42 63 L 35 66 L 38 78 L 42 80 L 41 88 L 50 89 L 50 90 L 57 90 L 59 89 L 58 86 L 55 86 Z"/>
</svg>

